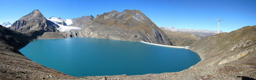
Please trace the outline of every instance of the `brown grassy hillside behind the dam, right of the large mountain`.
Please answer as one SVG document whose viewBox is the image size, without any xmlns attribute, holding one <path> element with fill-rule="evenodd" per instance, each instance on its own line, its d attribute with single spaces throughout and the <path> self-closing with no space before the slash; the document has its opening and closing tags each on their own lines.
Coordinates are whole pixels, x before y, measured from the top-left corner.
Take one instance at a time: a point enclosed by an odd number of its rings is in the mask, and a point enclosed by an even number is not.
<svg viewBox="0 0 256 80">
<path fill-rule="evenodd" d="M 199 36 L 196 36 L 192 33 L 175 32 L 168 29 L 162 30 L 168 36 L 168 38 L 170 38 L 172 44 L 174 44 L 175 46 L 189 46 L 190 44 L 201 39 Z"/>
</svg>

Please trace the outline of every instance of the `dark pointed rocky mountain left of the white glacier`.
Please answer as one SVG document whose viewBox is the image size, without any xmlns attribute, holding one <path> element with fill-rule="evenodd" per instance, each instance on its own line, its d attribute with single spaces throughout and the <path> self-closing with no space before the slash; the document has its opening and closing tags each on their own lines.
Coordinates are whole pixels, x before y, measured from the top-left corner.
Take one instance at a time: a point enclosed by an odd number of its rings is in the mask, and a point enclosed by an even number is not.
<svg viewBox="0 0 256 80">
<path fill-rule="evenodd" d="M 39 10 L 34 10 L 15 21 L 10 29 L 26 32 L 26 34 L 36 38 L 44 32 L 56 32 L 58 27 L 52 21 L 47 20 Z"/>
</svg>

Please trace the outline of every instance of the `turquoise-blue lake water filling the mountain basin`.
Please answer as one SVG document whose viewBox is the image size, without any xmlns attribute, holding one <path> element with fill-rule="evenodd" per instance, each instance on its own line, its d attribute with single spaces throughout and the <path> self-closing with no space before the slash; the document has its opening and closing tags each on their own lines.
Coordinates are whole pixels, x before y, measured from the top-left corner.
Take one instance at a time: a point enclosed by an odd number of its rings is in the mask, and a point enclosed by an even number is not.
<svg viewBox="0 0 256 80">
<path fill-rule="evenodd" d="M 45 67 L 77 77 L 178 72 L 200 61 L 186 49 L 97 38 L 35 40 L 19 51 Z"/>
</svg>

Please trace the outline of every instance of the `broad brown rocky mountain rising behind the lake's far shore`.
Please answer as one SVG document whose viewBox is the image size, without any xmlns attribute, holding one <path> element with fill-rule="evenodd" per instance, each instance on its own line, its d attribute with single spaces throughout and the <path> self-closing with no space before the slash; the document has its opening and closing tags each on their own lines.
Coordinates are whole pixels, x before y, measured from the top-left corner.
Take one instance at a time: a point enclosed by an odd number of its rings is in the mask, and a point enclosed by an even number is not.
<svg viewBox="0 0 256 80">
<path fill-rule="evenodd" d="M 92 18 L 77 18 L 88 22 L 76 36 L 172 45 L 168 36 L 139 10 L 114 10 Z"/>
</svg>

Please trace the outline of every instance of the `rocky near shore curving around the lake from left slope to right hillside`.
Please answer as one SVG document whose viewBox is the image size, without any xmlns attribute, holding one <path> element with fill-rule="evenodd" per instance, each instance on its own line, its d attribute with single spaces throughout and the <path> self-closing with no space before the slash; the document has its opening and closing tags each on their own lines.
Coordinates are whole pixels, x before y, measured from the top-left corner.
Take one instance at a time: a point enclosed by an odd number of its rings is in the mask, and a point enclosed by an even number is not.
<svg viewBox="0 0 256 80">
<path fill-rule="evenodd" d="M 247 26 L 230 33 L 207 36 L 190 45 L 201 61 L 180 72 L 144 75 L 68 76 L 24 57 L 18 49 L 32 41 L 28 36 L 0 26 L 0 79 L 185 79 L 231 80 L 256 78 L 256 26 Z M 16 35 L 16 36 L 13 36 Z M 28 40 L 19 39 L 21 37 Z"/>
</svg>

